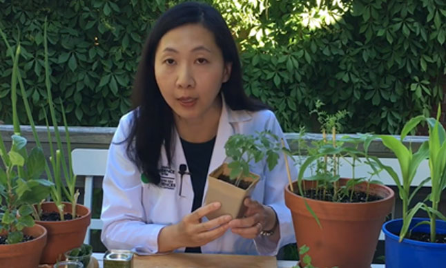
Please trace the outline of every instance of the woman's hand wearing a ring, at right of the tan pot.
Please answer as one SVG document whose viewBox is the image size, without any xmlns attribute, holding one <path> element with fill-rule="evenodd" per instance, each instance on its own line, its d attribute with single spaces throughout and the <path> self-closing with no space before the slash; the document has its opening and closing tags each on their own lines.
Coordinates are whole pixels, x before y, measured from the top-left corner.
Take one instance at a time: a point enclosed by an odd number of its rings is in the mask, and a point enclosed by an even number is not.
<svg viewBox="0 0 446 268">
<path fill-rule="evenodd" d="M 229 228 L 243 238 L 256 238 L 262 230 L 271 230 L 278 220 L 271 207 L 260 204 L 251 198 L 245 198 L 244 205 L 248 208 L 244 218 L 234 219 L 229 222 Z"/>
</svg>

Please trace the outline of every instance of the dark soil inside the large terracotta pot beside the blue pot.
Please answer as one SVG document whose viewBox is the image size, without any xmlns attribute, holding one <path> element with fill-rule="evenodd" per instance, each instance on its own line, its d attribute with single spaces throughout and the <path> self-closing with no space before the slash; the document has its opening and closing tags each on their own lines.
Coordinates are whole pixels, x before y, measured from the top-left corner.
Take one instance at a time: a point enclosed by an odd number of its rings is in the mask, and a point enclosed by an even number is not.
<svg viewBox="0 0 446 268">
<path fill-rule="evenodd" d="M 299 189 L 294 189 L 293 193 L 295 193 L 296 195 L 300 195 Z M 311 198 L 313 200 L 320 200 L 320 201 L 332 202 L 333 195 L 334 195 L 334 189 L 327 189 L 327 191 L 325 191 L 325 193 L 324 193 L 323 189 L 319 189 L 317 192 L 316 192 L 316 189 L 308 189 L 308 190 L 304 191 L 304 198 Z M 350 195 L 351 195 L 351 199 L 350 199 Z M 338 193 L 338 197 L 339 197 L 339 193 Z M 364 193 L 362 191 L 353 191 L 353 193 L 351 193 L 351 191 L 349 191 L 348 195 L 343 195 L 342 198 L 338 198 L 338 200 L 336 202 L 362 203 L 362 202 L 371 202 L 371 201 L 378 201 L 378 200 L 382 200 L 382 197 L 380 197 L 378 195 L 371 195 L 371 194 L 369 194 L 367 196 L 367 193 Z"/>
</svg>

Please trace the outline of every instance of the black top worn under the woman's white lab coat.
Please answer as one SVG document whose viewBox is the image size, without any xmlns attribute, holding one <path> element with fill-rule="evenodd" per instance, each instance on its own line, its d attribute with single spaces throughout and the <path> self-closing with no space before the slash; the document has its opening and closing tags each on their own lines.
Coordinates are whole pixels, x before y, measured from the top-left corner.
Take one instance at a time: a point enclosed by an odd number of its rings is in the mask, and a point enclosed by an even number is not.
<svg viewBox="0 0 446 268">
<path fill-rule="evenodd" d="M 181 144 L 183 146 L 184 155 L 188 170 L 191 173 L 192 187 L 193 187 L 193 205 L 192 211 L 202 207 L 204 185 L 208 178 L 209 164 L 211 163 L 212 151 L 214 149 L 215 137 L 209 142 L 192 143 L 186 142 L 183 139 Z M 201 253 L 201 247 L 186 247 L 186 252 Z"/>
</svg>

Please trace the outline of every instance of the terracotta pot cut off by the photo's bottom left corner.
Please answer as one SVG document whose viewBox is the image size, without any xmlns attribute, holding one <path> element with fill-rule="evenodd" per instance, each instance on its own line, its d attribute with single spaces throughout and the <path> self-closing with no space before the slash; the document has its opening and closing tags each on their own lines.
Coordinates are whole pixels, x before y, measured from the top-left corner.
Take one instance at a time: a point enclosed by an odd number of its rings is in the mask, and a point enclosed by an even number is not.
<svg viewBox="0 0 446 268">
<path fill-rule="evenodd" d="M 46 244 L 46 229 L 39 224 L 23 229 L 34 239 L 12 245 L 0 245 L 0 267 L 36 268 Z"/>
</svg>

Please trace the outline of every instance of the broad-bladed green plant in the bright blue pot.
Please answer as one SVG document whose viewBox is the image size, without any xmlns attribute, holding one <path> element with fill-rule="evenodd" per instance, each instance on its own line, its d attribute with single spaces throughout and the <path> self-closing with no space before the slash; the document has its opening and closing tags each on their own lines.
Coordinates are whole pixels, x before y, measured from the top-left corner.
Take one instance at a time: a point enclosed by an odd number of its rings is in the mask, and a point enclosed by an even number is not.
<svg viewBox="0 0 446 268">
<path fill-rule="evenodd" d="M 436 119 L 424 115 L 414 117 L 405 124 L 400 140 L 382 135 L 382 143 L 393 151 L 400 164 L 401 178 L 389 166 L 386 171 L 394 179 L 400 198 L 403 200 L 403 218 L 390 220 L 382 226 L 385 233 L 386 267 L 443 267 L 446 254 L 446 218 L 438 211 L 442 191 L 446 188 L 446 132 L 439 122 L 440 105 Z M 429 140 L 424 142 L 416 153 L 403 144 L 406 135 L 420 122 L 429 126 Z M 411 180 L 425 159 L 429 159 L 430 176 L 410 191 Z M 426 182 L 432 184 L 431 193 L 425 202 L 411 206 L 414 195 Z M 420 209 L 429 218 L 414 218 Z M 440 220 L 438 220 L 439 218 Z"/>
</svg>

